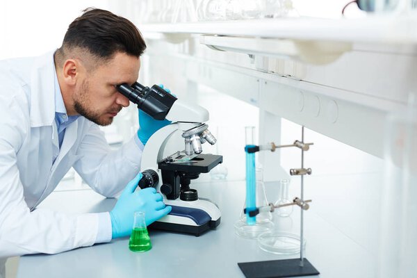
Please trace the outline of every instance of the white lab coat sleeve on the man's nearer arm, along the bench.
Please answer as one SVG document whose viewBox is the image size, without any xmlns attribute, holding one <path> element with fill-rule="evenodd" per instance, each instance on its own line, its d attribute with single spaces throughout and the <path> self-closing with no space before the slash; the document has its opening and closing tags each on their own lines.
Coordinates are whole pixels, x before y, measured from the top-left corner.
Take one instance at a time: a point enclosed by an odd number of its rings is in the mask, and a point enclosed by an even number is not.
<svg viewBox="0 0 417 278">
<path fill-rule="evenodd" d="M 26 99 L 0 95 L 0 258 L 55 254 L 93 245 L 99 215 L 30 211 L 17 166 L 17 152 L 30 132 Z M 25 110 L 26 107 L 26 110 Z"/>
</svg>

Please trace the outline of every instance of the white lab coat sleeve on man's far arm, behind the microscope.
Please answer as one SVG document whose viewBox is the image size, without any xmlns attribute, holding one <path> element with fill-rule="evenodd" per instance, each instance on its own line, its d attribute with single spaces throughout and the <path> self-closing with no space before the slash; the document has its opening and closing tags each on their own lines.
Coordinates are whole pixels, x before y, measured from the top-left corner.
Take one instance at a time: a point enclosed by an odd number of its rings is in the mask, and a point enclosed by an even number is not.
<svg viewBox="0 0 417 278">
<path fill-rule="evenodd" d="M 142 149 L 133 137 L 120 149 L 111 150 L 99 126 L 86 124 L 88 131 L 76 152 L 80 158 L 73 167 L 97 193 L 115 197 L 138 174 Z"/>
</svg>

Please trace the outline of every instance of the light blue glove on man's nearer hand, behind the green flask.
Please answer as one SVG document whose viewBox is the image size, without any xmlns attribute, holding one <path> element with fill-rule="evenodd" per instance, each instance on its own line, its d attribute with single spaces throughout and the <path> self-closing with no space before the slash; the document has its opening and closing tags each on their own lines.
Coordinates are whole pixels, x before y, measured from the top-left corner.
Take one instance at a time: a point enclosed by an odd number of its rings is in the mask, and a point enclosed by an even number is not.
<svg viewBox="0 0 417 278">
<path fill-rule="evenodd" d="M 131 234 L 135 211 L 145 212 L 145 222 L 149 225 L 170 213 L 172 209 L 171 206 L 165 206 L 162 202 L 162 195 L 156 193 L 155 188 L 145 188 L 135 192 L 140 179 L 142 179 L 142 173 L 129 181 L 110 212 L 112 238 Z"/>
</svg>

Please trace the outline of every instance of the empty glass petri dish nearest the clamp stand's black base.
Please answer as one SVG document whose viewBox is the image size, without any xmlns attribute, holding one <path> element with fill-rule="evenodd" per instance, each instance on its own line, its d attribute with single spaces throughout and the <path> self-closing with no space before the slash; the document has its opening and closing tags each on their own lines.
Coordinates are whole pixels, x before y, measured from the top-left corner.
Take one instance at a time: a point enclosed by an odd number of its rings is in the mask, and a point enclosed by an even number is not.
<svg viewBox="0 0 417 278">
<path fill-rule="evenodd" d="M 306 247 L 304 238 L 303 249 Z M 298 254 L 300 253 L 300 236 L 284 231 L 267 231 L 258 237 L 258 245 L 261 250 L 273 254 Z"/>
</svg>

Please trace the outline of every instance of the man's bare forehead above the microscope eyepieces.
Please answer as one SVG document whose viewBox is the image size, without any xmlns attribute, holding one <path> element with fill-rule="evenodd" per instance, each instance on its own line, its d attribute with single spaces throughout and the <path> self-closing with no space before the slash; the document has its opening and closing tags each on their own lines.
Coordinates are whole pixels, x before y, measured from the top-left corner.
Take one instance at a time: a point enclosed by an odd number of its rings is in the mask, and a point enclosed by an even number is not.
<svg viewBox="0 0 417 278">
<path fill-rule="evenodd" d="M 110 60 L 97 67 L 95 75 L 115 84 L 132 84 L 138 80 L 139 70 L 139 57 L 117 52 Z"/>
</svg>

